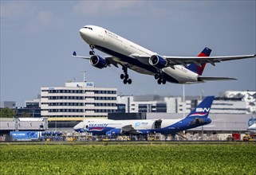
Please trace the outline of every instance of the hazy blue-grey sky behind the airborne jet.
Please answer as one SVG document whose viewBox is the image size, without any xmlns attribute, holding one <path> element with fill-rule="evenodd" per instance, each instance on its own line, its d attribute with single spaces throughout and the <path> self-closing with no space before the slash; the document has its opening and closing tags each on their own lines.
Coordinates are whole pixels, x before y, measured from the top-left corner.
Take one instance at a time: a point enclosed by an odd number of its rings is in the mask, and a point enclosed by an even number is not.
<svg viewBox="0 0 256 175">
<path fill-rule="evenodd" d="M 120 80 L 121 68 L 94 68 L 89 45 L 80 37 L 84 25 L 98 25 L 167 56 L 256 53 L 256 1 L 2 1 L 0 100 L 18 107 L 35 99 L 41 87 L 64 86 L 68 80 L 92 81 L 117 88 L 118 95 L 182 95 L 183 85 L 157 84 L 153 76 L 128 71 L 132 84 Z M 106 56 L 97 51 L 96 54 Z M 207 64 L 203 76 L 234 77 L 185 85 L 186 95 L 255 91 L 256 59 Z"/>
</svg>

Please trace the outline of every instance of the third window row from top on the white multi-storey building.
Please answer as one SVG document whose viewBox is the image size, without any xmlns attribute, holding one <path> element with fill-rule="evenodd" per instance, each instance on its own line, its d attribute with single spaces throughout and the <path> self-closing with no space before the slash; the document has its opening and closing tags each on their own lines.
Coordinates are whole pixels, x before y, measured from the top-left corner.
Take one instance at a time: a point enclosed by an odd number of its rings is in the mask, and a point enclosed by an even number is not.
<svg viewBox="0 0 256 175">
<path fill-rule="evenodd" d="M 46 104 L 49 107 L 61 107 L 61 106 L 74 106 L 81 107 L 86 105 L 93 105 L 94 107 L 116 107 L 116 103 L 41 103 Z"/>
</svg>

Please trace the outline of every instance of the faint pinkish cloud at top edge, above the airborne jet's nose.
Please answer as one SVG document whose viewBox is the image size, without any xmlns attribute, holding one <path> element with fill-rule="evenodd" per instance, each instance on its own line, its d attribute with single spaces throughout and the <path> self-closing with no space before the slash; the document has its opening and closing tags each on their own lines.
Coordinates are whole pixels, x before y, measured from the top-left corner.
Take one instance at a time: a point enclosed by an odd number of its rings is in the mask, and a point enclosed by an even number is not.
<svg viewBox="0 0 256 175">
<path fill-rule="evenodd" d="M 73 6 L 73 13 L 91 15 L 92 17 L 112 16 L 116 13 L 120 14 L 122 10 L 137 8 L 143 3 L 136 1 L 81 1 Z"/>
</svg>

